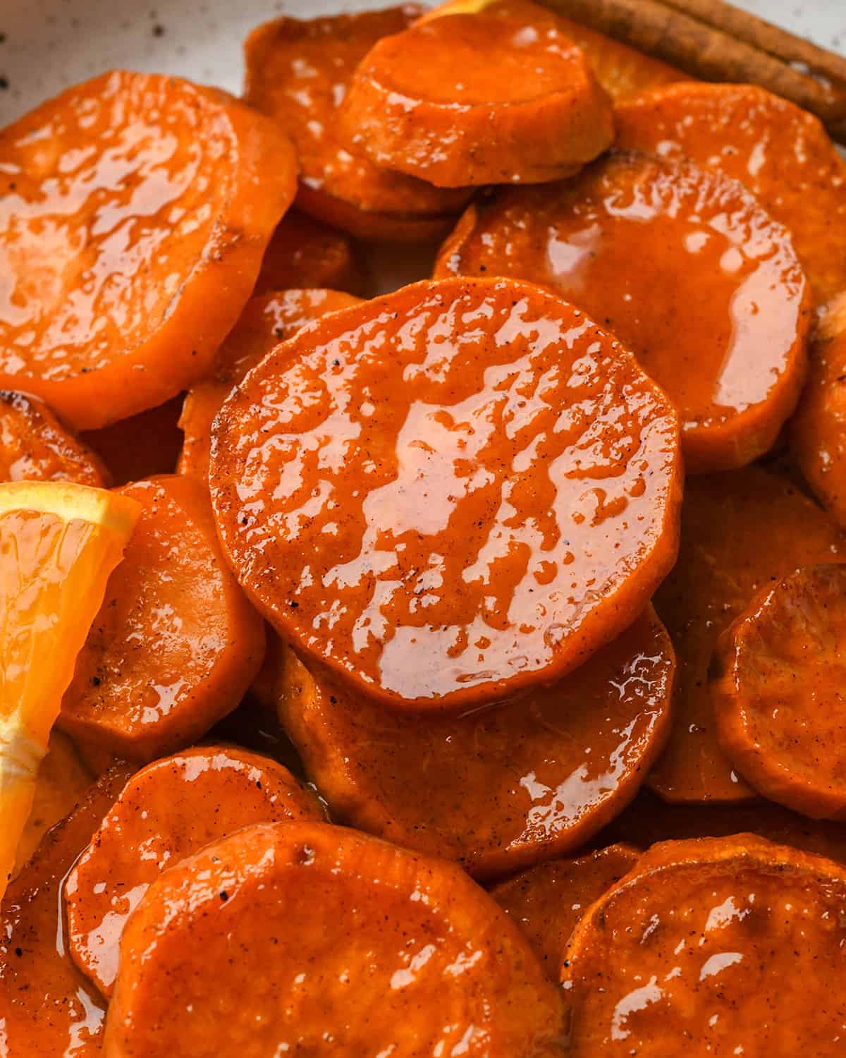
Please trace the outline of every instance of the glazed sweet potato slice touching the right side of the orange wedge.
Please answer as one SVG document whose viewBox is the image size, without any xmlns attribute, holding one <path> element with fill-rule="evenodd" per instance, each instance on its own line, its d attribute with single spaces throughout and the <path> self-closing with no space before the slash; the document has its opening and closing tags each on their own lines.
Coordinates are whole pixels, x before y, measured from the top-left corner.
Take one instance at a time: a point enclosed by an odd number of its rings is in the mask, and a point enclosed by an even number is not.
<svg viewBox="0 0 846 1058">
<path fill-rule="evenodd" d="M 264 630 L 229 572 L 203 486 L 126 486 L 143 505 L 109 578 L 59 723 L 81 742 L 148 761 L 203 735 L 258 672 Z"/>
</svg>

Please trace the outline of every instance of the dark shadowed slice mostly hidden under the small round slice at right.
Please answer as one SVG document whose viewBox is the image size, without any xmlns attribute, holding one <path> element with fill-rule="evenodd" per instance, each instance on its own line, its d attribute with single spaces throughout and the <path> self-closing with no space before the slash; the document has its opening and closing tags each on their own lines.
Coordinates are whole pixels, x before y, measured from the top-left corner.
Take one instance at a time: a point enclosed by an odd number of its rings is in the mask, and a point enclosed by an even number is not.
<svg viewBox="0 0 846 1058">
<path fill-rule="evenodd" d="M 676 713 L 648 781 L 668 801 L 736 801 L 752 790 L 717 741 L 707 682 L 717 638 L 761 585 L 846 560 L 846 541 L 790 481 L 754 467 L 688 480 L 681 531 L 679 560 L 655 599 L 679 663 Z"/>
</svg>

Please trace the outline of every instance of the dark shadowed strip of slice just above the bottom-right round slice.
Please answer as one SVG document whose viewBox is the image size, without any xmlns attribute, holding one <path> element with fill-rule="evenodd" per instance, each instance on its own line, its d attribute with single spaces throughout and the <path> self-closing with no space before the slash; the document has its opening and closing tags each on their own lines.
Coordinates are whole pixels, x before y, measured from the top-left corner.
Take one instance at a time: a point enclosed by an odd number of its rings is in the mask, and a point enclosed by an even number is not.
<svg viewBox="0 0 846 1058">
<path fill-rule="evenodd" d="M 746 833 L 846 862 L 846 827 L 839 823 L 808 819 L 762 799 L 739 804 L 667 804 L 646 788 L 605 827 L 596 842 L 629 841 L 648 849 L 657 841 Z"/>
</svg>

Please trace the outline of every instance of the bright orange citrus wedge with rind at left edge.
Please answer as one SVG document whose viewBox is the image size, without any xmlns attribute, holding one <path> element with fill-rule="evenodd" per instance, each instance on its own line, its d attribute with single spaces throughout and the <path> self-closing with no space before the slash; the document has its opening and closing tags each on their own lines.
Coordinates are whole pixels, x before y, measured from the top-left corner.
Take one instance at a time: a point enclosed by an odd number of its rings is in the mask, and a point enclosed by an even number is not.
<svg viewBox="0 0 846 1058">
<path fill-rule="evenodd" d="M 76 655 L 140 512 L 82 485 L 0 485 L 0 896 Z"/>
</svg>

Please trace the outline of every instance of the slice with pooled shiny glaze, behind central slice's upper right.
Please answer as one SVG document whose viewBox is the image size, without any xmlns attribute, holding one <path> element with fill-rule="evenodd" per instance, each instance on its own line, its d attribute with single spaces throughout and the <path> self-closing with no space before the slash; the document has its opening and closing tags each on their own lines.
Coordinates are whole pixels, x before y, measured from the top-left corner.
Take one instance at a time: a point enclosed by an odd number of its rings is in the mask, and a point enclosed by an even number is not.
<svg viewBox="0 0 846 1058">
<path fill-rule="evenodd" d="M 530 279 L 608 326 L 678 407 L 694 473 L 766 452 L 805 380 L 810 295 L 789 233 L 692 162 L 615 153 L 503 189 L 468 208 L 435 274 Z"/>
</svg>

